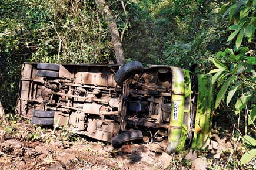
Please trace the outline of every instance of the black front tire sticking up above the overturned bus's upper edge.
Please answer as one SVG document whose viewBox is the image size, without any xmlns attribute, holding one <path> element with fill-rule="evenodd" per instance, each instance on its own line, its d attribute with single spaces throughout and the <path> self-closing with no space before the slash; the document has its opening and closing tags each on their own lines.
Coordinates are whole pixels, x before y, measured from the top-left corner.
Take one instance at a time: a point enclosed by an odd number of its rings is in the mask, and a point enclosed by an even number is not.
<svg viewBox="0 0 256 170">
<path fill-rule="evenodd" d="M 124 64 L 117 73 L 115 73 L 115 82 L 119 86 L 122 87 L 122 83 L 133 73 L 141 73 L 143 72 L 144 67 L 142 66 L 141 62 L 132 61 L 127 64 Z"/>
</svg>

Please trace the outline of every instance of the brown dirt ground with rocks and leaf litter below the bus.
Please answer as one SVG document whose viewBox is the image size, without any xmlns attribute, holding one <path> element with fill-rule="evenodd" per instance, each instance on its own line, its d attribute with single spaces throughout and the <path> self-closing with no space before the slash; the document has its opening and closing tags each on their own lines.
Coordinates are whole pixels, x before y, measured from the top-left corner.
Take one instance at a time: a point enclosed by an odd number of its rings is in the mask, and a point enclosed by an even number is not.
<svg viewBox="0 0 256 170">
<path fill-rule="evenodd" d="M 154 145 L 112 145 L 72 133 L 72 127 L 32 125 L 19 118 L 1 123 L 0 169 L 253 169 L 238 166 L 242 145 L 232 139 L 232 125 L 214 123 L 207 151 L 188 148 L 161 153 Z M 235 149 L 234 149 L 235 148 Z"/>
</svg>

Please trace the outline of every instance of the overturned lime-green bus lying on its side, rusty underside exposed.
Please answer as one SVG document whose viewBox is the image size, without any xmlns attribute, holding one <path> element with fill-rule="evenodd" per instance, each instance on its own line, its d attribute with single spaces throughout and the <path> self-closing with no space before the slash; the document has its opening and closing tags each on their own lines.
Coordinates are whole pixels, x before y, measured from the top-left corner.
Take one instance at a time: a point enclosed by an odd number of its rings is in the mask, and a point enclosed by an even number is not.
<svg viewBox="0 0 256 170">
<path fill-rule="evenodd" d="M 205 149 L 210 75 L 172 66 L 24 63 L 16 112 L 38 125 L 74 125 L 114 147 L 141 141 L 167 153 Z"/>
</svg>

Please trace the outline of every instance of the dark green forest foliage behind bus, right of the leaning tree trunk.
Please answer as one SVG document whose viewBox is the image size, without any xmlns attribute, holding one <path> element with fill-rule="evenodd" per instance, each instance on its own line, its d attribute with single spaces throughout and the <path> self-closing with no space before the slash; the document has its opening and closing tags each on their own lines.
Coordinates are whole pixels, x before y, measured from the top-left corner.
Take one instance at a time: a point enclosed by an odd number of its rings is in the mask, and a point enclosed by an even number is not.
<svg viewBox="0 0 256 170">
<path fill-rule="evenodd" d="M 129 2 L 131 30 L 124 40 L 125 57 L 147 64 L 210 67 L 209 58 L 221 48 L 225 22 L 215 1 Z M 224 31 L 225 32 L 225 31 Z"/>
</svg>

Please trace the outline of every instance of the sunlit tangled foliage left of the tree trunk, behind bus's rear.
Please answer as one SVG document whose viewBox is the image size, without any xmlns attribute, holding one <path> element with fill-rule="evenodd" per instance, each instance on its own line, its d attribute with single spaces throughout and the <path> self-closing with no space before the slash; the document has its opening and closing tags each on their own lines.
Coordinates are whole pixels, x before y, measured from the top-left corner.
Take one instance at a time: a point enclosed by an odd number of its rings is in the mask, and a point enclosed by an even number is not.
<svg viewBox="0 0 256 170">
<path fill-rule="evenodd" d="M 23 62 L 104 63 L 114 59 L 94 1 L 0 2 L 0 101 L 14 112 Z"/>
</svg>

